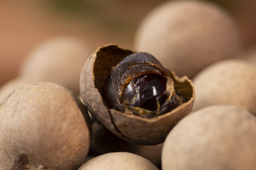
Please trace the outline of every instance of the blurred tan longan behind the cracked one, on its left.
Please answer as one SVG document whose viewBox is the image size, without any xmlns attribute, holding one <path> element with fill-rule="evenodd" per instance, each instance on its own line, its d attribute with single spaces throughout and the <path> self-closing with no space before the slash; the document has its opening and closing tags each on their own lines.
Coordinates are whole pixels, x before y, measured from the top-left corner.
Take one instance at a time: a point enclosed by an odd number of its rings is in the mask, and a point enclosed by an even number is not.
<svg viewBox="0 0 256 170">
<path fill-rule="evenodd" d="M 93 51 L 86 42 L 59 36 L 38 44 L 22 62 L 19 75 L 33 82 L 53 82 L 78 94 L 80 73 L 84 62 Z"/>
</svg>

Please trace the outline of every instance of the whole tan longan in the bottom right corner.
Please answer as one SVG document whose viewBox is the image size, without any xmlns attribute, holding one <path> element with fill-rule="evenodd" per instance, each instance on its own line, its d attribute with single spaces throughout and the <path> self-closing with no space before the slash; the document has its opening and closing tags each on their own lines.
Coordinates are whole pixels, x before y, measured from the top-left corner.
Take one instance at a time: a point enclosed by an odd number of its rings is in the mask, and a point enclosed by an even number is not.
<svg viewBox="0 0 256 170">
<path fill-rule="evenodd" d="M 247 110 L 214 105 L 192 112 L 168 134 L 162 170 L 253 170 L 256 118 Z"/>
</svg>

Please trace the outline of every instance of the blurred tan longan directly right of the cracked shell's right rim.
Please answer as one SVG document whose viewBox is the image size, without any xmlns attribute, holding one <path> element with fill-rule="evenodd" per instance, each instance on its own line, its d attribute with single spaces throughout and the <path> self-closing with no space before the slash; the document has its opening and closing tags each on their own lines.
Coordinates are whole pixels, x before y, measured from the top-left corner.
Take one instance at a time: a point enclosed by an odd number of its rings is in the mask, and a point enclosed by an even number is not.
<svg viewBox="0 0 256 170">
<path fill-rule="evenodd" d="M 193 110 L 214 104 L 231 104 L 256 113 L 256 68 L 239 59 L 219 61 L 193 79 Z"/>
</svg>

